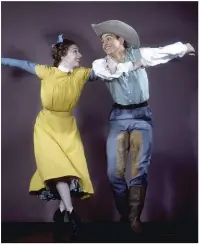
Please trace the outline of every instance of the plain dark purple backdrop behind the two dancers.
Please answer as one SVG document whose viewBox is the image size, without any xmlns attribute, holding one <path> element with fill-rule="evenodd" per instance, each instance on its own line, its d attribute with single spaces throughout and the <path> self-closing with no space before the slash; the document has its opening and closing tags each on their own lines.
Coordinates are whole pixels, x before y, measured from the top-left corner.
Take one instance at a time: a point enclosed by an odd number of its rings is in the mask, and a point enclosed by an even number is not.
<svg viewBox="0 0 200 245">
<path fill-rule="evenodd" d="M 103 52 L 90 25 L 108 19 L 132 25 L 143 47 L 182 41 L 190 42 L 198 52 L 197 2 L 3 2 L 2 57 L 51 64 L 51 45 L 62 31 L 66 38 L 80 45 L 82 65 L 91 66 Z M 142 219 L 194 218 L 198 168 L 197 55 L 148 68 L 148 75 L 154 113 L 154 153 Z M 105 144 L 111 105 L 105 84 L 97 81 L 85 86 L 75 111 L 95 188 L 95 196 L 90 200 L 75 201 L 85 220 L 118 218 L 106 176 Z M 28 194 L 36 168 L 33 126 L 40 109 L 39 80 L 26 72 L 3 67 L 3 221 L 51 221 L 57 205 Z"/>
</svg>

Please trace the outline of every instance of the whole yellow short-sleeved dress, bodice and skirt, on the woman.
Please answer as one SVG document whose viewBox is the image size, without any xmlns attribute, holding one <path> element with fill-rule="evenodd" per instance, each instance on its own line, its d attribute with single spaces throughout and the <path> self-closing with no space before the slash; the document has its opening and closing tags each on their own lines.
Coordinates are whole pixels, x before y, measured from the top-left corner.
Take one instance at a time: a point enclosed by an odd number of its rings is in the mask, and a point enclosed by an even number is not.
<svg viewBox="0 0 200 245">
<path fill-rule="evenodd" d="M 66 73 L 56 67 L 36 65 L 35 70 L 41 79 L 43 110 L 34 126 L 37 170 L 31 179 L 29 193 L 39 195 L 45 190 L 49 192 L 49 180 L 75 177 L 83 198 L 88 197 L 94 191 L 72 110 L 91 69 L 76 68 L 72 73 Z"/>
</svg>

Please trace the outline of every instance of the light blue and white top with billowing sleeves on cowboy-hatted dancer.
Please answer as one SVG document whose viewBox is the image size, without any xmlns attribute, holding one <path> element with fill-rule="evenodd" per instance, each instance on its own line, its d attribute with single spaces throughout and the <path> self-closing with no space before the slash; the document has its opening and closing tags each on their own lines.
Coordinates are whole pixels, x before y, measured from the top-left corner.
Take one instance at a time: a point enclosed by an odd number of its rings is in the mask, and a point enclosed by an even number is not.
<svg viewBox="0 0 200 245">
<path fill-rule="evenodd" d="M 126 49 L 125 62 L 143 59 L 148 66 L 167 63 L 183 57 L 187 52 L 186 45 L 181 42 L 161 48 Z M 123 63 L 126 64 L 126 63 Z M 115 63 L 115 65 L 117 65 Z M 139 104 L 149 99 L 149 82 L 146 70 L 139 68 L 127 73 L 125 66 L 120 66 L 111 74 L 107 68 L 106 57 L 93 62 L 93 70 L 98 77 L 106 81 L 114 102 L 121 105 Z"/>
</svg>

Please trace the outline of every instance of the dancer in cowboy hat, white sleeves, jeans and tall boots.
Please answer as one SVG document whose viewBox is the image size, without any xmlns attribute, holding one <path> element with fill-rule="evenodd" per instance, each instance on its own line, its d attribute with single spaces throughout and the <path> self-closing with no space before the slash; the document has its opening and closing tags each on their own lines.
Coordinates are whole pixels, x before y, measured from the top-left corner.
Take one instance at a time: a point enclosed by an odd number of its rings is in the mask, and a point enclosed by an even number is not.
<svg viewBox="0 0 200 245">
<path fill-rule="evenodd" d="M 92 28 L 107 54 L 104 59 L 93 63 L 95 74 L 103 79 L 103 70 L 105 73 L 109 69 L 119 74 L 105 80 L 114 100 L 107 139 L 108 178 L 121 220 L 129 220 L 132 229 L 141 232 L 140 215 L 152 153 L 152 112 L 148 105 L 148 77 L 143 68 L 166 63 L 185 54 L 194 54 L 195 51 L 190 44 L 181 42 L 162 48 L 140 48 L 137 32 L 118 20 L 93 24 Z M 142 62 L 141 67 L 134 70 L 132 66 L 136 60 Z M 122 63 L 124 67 L 119 67 Z M 126 72 L 123 70 L 125 67 Z M 129 151 L 132 170 L 128 188 L 124 172 Z"/>
</svg>

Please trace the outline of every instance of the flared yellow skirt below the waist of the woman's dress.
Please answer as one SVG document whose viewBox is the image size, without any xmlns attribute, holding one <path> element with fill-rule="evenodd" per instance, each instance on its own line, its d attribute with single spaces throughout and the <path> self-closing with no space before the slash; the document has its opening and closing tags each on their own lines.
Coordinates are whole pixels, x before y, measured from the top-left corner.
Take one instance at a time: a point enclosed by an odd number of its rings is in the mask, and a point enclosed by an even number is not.
<svg viewBox="0 0 200 245">
<path fill-rule="evenodd" d="M 34 152 L 37 170 L 30 182 L 30 194 L 49 192 L 47 182 L 62 177 L 76 178 L 83 198 L 94 193 L 72 113 L 46 109 L 39 113 L 34 127 Z M 52 199 L 56 199 L 53 194 Z"/>
</svg>

